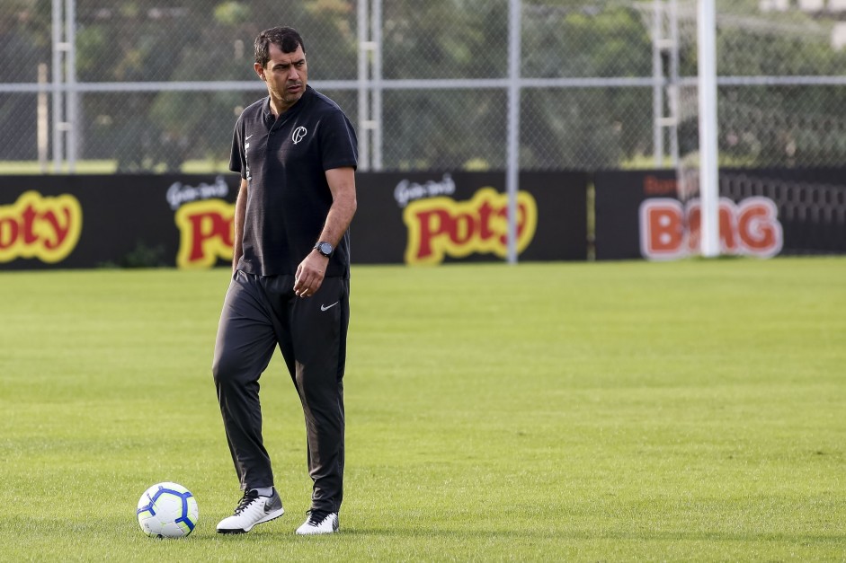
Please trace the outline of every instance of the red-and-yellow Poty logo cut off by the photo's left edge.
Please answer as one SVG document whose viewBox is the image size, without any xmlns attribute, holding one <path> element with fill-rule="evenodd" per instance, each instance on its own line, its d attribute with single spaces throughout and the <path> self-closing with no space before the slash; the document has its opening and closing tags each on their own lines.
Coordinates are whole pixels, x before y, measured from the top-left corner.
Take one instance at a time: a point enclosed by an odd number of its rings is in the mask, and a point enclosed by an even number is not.
<svg viewBox="0 0 846 563">
<path fill-rule="evenodd" d="M 76 248 L 80 233 L 79 200 L 68 194 L 52 198 L 26 191 L 11 206 L 0 206 L 0 262 L 65 260 Z"/>
</svg>

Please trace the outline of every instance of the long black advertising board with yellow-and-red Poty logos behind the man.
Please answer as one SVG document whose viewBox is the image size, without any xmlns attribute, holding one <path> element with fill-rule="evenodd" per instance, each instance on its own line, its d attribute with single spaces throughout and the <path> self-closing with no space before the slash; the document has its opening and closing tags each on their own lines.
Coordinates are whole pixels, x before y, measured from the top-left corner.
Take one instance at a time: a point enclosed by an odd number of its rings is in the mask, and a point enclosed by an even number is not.
<svg viewBox="0 0 846 563">
<path fill-rule="evenodd" d="M 505 177 L 359 173 L 352 259 L 370 264 L 502 261 Z M 176 266 L 232 259 L 239 178 L 0 177 L 0 269 Z M 585 260 L 587 175 L 521 174 L 520 260 Z"/>
</svg>

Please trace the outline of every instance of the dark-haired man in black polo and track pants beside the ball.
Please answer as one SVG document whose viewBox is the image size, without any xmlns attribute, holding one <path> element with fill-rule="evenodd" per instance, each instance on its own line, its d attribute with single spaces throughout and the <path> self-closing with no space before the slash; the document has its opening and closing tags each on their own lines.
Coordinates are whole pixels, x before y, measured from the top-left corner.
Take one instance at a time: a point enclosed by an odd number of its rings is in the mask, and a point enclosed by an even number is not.
<svg viewBox="0 0 846 563">
<path fill-rule="evenodd" d="M 274 348 L 306 418 L 311 510 L 298 534 L 338 531 L 343 497 L 343 370 L 355 213 L 355 132 L 307 83 L 298 32 L 255 39 L 268 97 L 237 120 L 229 168 L 241 174 L 233 277 L 220 315 L 214 374 L 244 497 L 218 532 L 249 532 L 284 513 L 263 445 L 259 377 Z"/>
</svg>

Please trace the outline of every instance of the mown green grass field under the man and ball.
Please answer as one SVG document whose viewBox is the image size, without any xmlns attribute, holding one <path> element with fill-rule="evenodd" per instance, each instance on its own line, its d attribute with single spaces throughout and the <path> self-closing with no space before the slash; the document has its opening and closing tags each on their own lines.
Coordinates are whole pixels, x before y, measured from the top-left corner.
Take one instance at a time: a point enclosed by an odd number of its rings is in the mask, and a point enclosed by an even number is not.
<svg viewBox="0 0 846 563">
<path fill-rule="evenodd" d="M 355 267 L 342 533 L 242 536 L 211 353 L 227 271 L 0 274 L 0 560 L 846 559 L 846 259 Z M 191 488 L 191 537 L 138 497 Z"/>
</svg>

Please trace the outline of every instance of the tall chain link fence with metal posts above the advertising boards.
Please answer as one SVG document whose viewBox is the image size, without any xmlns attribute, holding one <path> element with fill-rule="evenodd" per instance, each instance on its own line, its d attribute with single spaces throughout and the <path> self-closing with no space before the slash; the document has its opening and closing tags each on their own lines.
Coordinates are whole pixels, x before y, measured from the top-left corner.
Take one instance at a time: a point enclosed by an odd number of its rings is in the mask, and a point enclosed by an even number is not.
<svg viewBox="0 0 846 563">
<path fill-rule="evenodd" d="M 717 0 L 722 165 L 842 165 L 844 4 Z M 695 160 L 695 0 L 522 0 L 520 18 L 521 169 Z M 278 24 L 364 167 L 505 168 L 509 0 L 4 0 L 0 173 L 226 170 L 266 93 L 253 38 Z"/>
</svg>

